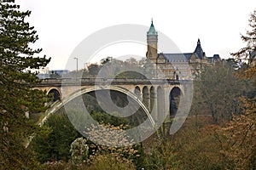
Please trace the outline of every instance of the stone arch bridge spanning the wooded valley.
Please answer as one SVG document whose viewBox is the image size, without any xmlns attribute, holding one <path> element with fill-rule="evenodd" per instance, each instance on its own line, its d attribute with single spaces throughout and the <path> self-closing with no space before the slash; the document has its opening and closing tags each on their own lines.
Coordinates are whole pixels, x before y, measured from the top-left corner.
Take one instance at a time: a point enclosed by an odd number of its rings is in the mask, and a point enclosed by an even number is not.
<svg viewBox="0 0 256 170">
<path fill-rule="evenodd" d="M 104 79 L 104 78 L 62 78 L 44 79 L 35 89 L 53 94 L 53 101 L 68 101 L 81 94 L 99 89 L 116 90 L 135 95 L 140 105 L 149 113 L 158 116 L 174 116 L 180 97 L 187 93 L 191 81 L 166 79 Z"/>
</svg>

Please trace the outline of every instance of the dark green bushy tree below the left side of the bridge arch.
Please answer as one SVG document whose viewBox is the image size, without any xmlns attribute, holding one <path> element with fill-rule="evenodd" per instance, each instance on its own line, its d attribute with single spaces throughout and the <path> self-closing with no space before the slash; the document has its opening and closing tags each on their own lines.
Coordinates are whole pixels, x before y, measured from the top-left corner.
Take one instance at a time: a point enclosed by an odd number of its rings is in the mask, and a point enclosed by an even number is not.
<svg viewBox="0 0 256 170">
<path fill-rule="evenodd" d="M 49 116 L 44 127 L 50 129 L 49 133 L 37 134 L 30 146 L 37 153 L 38 161 L 68 161 L 70 144 L 81 136 L 79 132 L 64 113 Z"/>
</svg>

